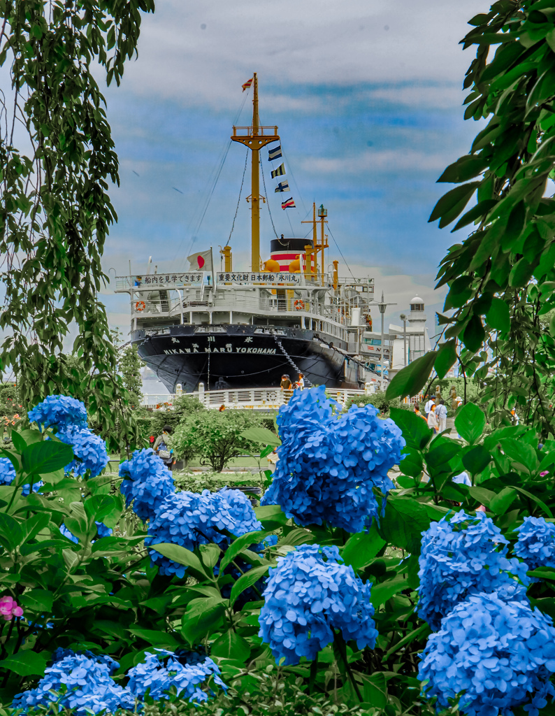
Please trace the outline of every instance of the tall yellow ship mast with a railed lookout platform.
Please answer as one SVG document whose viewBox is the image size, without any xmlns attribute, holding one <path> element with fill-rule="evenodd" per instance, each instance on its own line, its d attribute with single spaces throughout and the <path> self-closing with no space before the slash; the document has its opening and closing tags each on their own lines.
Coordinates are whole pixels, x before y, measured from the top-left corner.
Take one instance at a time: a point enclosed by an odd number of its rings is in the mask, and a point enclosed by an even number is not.
<svg viewBox="0 0 555 716">
<path fill-rule="evenodd" d="M 259 120 L 259 80 L 256 72 L 253 77 L 253 121 L 251 127 L 233 127 L 233 142 L 245 145 L 252 152 L 251 163 L 251 271 L 260 270 L 260 202 L 266 201 L 260 195 L 260 150 L 271 142 L 279 140 L 277 127 L 261 127 Z"/>
</svg>

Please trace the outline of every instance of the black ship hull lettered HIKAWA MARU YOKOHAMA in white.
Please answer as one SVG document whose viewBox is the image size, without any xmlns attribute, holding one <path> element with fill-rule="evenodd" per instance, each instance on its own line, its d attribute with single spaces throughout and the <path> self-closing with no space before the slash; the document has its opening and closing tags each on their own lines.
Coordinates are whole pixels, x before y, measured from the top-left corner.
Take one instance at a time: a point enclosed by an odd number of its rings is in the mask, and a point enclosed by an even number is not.
<svg viewBox="0 0 555 716">
<path fill-rule="evenodd" d="M 364 387 L 364 368 L 342 352 L 338 339 L 317 332 L 271 326 L 172 326 L 132 332 L 132 344 L 170 392 L 225 387 L 279 386 L 298 369 L 313 385 Z"/>
</svg>

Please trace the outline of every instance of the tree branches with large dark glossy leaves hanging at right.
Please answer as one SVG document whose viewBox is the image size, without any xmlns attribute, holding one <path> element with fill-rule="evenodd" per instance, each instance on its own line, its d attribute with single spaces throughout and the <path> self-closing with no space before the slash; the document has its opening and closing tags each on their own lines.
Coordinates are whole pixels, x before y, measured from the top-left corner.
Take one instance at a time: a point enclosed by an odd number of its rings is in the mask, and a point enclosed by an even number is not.
<svg viewBox="0 0 555 716">
<path fill-rule="evenodd" d="M 464 82 L 465 119 L 489 121 L 438 179 L 458 186 L 430 221 L 448 226 L 476 195 L 453 231 L 473 228 L 438 274 L 438 286 L 449 287 L 439 316 L 446 342 L 397 374 L 389 392 L 414 395 L 433 367 L 443 377 L 458 362 L 482 385 L 493 425 L 516 407 L 544 435 L 555 432 L 555 321 L 549 330 L 541 321 L 555 306 L 554 21 L 550 0 L 501 0 L 470 20 L 463 46 L 477 51 Z"/>
</svg>

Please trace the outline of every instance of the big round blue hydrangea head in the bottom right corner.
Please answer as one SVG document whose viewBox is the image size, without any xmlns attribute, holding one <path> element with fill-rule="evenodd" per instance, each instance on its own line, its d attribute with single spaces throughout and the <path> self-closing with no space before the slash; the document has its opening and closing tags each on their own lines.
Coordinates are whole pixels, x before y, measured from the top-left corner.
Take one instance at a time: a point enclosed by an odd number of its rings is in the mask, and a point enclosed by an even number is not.
<svg viewBox="0 0 555 716">
<path fill-rule="evenodd" d="M 529 716 L 553 697 L 555 629 L 551 617 L 531 609 L 521 592 L 472 594 L 457 604 L 432 634 L 418 672 L 438 711 L 460 692 L 458 708 L 468 716 L 511 715 L 522 705 Z"/>
</svg>

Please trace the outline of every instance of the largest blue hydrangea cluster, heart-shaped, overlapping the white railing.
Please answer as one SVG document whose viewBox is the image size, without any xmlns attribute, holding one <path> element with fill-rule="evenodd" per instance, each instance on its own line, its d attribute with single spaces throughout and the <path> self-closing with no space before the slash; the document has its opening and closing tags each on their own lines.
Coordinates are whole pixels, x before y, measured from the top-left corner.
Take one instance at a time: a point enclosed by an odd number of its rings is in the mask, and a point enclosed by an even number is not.
<svg viewBox="0 0 555 716">
<path fill-rule="evenodd" d="M 399 463 L 405 440 L 373 405 L 353 405 L 337 417 L 325 387 L 296 391 L 279 410 L 281 447 L 263 505 L 281 505 L 301 525 L 327 522 L 360 532 L 377 518 L 374 488 L 393 487 L 388 471 Z"/>
</svg>

